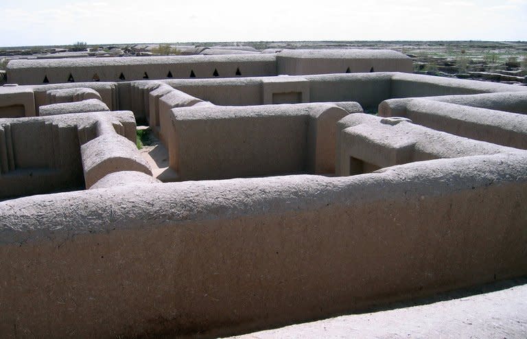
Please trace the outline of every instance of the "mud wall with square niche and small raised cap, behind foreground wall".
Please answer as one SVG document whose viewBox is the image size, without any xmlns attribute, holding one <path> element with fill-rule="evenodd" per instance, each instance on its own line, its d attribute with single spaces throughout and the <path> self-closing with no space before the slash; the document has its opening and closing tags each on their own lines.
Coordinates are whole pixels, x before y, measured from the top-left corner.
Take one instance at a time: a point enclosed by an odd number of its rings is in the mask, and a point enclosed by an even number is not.
<svg viewBox="0 0 527 339">
<path fill-rule="evenodd" d="M 415 161 L 517 152 L 515 148 L 425 128 L 400 117 L 348 115 L 338 121 L 337 130 L 338 176 Z"/>
</svg>

